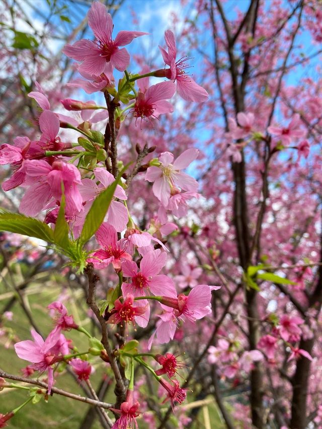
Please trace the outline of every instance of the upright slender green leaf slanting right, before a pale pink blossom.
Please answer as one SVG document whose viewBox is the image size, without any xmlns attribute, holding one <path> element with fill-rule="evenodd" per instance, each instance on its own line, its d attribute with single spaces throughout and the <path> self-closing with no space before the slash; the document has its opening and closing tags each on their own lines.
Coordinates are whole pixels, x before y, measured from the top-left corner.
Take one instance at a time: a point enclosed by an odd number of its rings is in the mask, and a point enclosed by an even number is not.
<svg viewBox="0 0 322 429">
<path fill-rule="evenodd" d="M 102 225 L 106 212 L 111 204 L 116 186 L 121 181 L 122 174 L 125 172 L 128 166 L 129 164 L 121 170 L 115 181 L 107 189 L 101 192 L 100 195 L 94 200 L 92 207 L 85 218 L 81 236 L 78 238 L 79 246 L 84 246 L 84 244 L 87 243 L 91 237 L 93 237 L 93 235 Z"/>
</svg>

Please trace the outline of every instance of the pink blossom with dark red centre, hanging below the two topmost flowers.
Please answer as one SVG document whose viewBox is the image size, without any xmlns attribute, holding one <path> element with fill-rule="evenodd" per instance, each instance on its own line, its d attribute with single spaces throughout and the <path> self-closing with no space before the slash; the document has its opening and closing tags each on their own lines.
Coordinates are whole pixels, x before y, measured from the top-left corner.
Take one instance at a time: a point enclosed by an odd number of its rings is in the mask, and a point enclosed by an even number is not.
<svg viewBox="0 0 322 429">
<path fill-rule="evenodd" d="M 139 81 L 140 86 L 140 81 Z M 134 105 L 135 118 L 157 118 L 162 113 L 172 113 L 173 105 L 169 100 L 176 92 L 176 85 L 172 82 L 160 82 L 143 90 L 141 87 Z"/>
</svg>

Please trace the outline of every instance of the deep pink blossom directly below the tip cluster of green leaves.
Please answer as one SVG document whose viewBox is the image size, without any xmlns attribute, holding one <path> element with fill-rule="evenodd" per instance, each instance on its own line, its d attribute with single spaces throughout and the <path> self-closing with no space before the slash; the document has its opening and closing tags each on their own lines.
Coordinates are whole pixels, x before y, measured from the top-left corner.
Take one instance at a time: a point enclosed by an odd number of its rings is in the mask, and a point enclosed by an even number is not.
<svg viewBox="0 0 322 429">
<path fill-rule="evenodd" d="M 116 270 L 121 269 L 122 261 L 131 261 L 132 257 L 126 253 L 121 240 L 117 241 L 117 232 L 112 225 L 104 222 L 97 230 L 95 237 L 102 249 L 93 253 L 89 262 L 93 262 L 96 268 L 102 269 L 112 263 Z"/>
</svg>

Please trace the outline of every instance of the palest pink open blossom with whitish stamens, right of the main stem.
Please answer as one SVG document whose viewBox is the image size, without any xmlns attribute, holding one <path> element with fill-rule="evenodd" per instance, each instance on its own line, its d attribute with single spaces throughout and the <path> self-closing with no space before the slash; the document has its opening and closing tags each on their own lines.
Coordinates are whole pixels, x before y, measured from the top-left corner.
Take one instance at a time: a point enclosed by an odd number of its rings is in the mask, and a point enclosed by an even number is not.
<svg viewBox="0 0 322 429">
<path fill-rule="evenodd" d="M 152 166 L 147 169 L 145 180 L 154 182 L 153 193 L 165 207 L 169 203 L 171 189 L 174 186 L 180 186 L 185 191 L 197 191 L 198 182 L 181 170 L 187 168 L 198 157 L 198 154 L 197 149 L 188 149 L 173 162 L 174 156 L 170 152 L 163 152 L 158 158 L 160 166 Z"/>
</svg>

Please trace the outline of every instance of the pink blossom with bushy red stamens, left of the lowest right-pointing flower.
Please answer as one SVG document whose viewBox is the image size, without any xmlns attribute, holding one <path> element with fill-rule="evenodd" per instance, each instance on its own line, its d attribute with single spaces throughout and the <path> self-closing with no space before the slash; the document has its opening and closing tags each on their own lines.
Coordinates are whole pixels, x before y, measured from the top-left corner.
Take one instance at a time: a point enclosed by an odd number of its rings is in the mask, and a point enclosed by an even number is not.
<svg viewBox="0 0 322 429">
<path fill-rule="evenodd" d="M 111 311 L 111 316 L 108 323 L 122 323 L 135 322 L 141 327 L 145 328 L 150 317 L 150 307 L 146 300 L 134 302 L 133 295 L 127 295 L 125 298 L 118 298 L 114 303 L 114 309 Z"/>
</svg>

